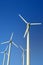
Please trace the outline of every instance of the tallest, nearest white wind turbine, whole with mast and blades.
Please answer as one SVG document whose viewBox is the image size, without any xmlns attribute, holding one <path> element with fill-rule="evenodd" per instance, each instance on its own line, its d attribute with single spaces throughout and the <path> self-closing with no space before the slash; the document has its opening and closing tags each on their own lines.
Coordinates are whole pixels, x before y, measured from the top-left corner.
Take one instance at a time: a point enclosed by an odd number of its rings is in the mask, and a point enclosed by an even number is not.
<svg viewBox="0 0 43 65">
<path fill-rule="evenodd" d="M 29 31 L 30 31 L 30 26 L 35 26 L 35 25 L 41 25 L 42 23 L 28 23 L 20 14 L 19 17 L 25 22 L 27 25 L 24 38 L 27 35 L 27 65 L 30 65 L 30 48 L 29 48 L 29 43 L 30 43 L 30 38 L 29 38 Z"/>
</svg>

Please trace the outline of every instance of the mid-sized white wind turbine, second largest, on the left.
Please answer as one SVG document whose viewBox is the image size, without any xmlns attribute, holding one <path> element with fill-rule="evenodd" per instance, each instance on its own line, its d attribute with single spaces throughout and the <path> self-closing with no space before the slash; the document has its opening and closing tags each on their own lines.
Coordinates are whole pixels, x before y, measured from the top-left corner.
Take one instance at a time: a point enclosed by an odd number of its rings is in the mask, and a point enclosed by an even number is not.
<svg viewBox="0 0 43 65">
<path fill-rule="evenodd" d="M 9 40 L 9 41 L 6 41 L 6 42 L 1 43 L 1 44 L 6 44 L 6 43 L 9 43 L 9 50 L 8 50 L 8 60 L 7 60 L 7 65 L 9 65 L 9 62 L 10 62 L 10 52 L 11 52 L 11 46 L 12 46 L 12 44 L 13 44 L 16 48 L 18 48 L 18 45 L 16 45 L 16 44 L 12 41 L 12 37 L 13 37 L 13 33 L 12 33 L 12 35 L 11 35 L 11 37 L 10 37 L 10 40 Z"/>
</svg>

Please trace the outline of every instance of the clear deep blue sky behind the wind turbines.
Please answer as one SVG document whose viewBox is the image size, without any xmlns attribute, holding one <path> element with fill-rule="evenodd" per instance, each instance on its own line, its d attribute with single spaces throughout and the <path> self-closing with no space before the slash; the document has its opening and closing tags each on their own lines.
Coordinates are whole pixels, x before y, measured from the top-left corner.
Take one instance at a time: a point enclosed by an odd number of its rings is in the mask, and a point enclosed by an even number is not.
<svg viewBox="0 0 43 65">
<path fill-rule="evenodd" d="M 1 42 L 9 40 L 12 32 L 14 33 L 13 41 L 26 49 L 26 38 L 23 37 L 26 24 L 20 19 L 19 14 L 28 22 L 42 23 L 41 26 L 30 27 L 30 65 L 43 65 L 42 0 L 0 0 L 0 51 L 4 51 L 9 46 L 9 44 L 1 45 Z M 3 56 L 4 54 L 0 54 L 0 65 L 2 65 Z M 10 65 L 22 65 L 22 50 L 13 45 L 11 47 Z"/>
</svg>

